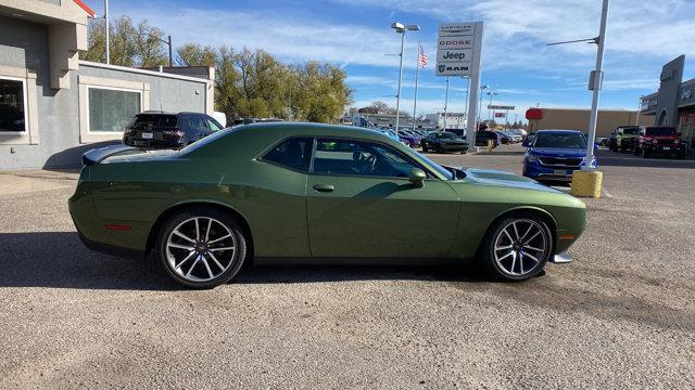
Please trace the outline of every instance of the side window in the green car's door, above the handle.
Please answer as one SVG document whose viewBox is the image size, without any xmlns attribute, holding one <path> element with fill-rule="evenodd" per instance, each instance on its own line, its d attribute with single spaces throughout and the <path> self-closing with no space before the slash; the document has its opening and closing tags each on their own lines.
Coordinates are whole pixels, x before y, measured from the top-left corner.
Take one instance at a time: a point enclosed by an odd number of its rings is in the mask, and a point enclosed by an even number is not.
<svg viewBox="0 0 695 390">
<path fill-rule="evenodd" d="M 319 139 L 315 173 L 407 178 L 416 166 L 399 151 L 379 143 Z"/>
</svg>

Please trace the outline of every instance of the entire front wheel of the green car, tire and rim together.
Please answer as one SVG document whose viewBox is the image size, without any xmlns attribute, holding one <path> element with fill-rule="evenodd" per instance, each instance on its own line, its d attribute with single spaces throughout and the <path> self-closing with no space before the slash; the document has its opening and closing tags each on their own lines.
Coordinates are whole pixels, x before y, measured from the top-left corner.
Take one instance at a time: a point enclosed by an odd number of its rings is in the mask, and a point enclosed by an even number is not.
<svg viewBox="0 0 695 390">
<path fill-rule="evenodd" d="M 536 276 L 553 256 L 553 235 L 544 219 L 517 214 L 497 222 L 484 244 L 489 273 L 502 281 Z"/>
</svg>

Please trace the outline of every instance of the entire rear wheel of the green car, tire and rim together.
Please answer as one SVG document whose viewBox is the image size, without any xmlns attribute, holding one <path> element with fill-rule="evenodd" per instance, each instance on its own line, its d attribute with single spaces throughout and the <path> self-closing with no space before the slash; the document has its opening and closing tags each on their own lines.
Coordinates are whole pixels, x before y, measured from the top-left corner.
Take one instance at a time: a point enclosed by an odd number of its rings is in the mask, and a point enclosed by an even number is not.
<svg viewBox="0 0 695 390">
<path fill-rule="evenodd" d="M 212 288 L 229 282 L 247 257 L 247 238 L 235 218 L 195 208 L 169 218 L 157 238 L 160 262 L 176 282 Z"/>
</svg>

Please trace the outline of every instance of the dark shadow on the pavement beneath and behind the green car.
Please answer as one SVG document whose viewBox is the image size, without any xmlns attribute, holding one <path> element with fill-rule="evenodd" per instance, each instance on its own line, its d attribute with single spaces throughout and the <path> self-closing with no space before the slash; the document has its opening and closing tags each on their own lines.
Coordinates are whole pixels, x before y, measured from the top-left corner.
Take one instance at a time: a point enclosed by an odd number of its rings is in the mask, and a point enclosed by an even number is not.
<svg viewBox="0 0 695 390">
<path fill-rule="evenodd" d="M 125 259 L 87 249 L 76 232 L 0 233 L 0 288 L 180 290 L 153 258 Z M 472 266 L 244 266 L 233 283 L 316 283 L 372 280 L 486 282 Z"/>
</svg>

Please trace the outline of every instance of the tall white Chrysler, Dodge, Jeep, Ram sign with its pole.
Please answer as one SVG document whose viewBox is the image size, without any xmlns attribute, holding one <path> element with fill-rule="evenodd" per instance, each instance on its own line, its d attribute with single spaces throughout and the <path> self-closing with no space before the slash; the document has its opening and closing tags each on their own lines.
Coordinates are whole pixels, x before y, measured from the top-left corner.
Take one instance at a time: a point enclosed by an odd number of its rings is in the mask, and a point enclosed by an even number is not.
<svg viewBox="0 0 695 390">
<path fill-rule="evenodd" d="M 444 23 L 439 25 L 437 65 L 434 74 L 440 77 L 468 76 L 470 90 L 480 88 L 480 54 L 482 52 L 482 22 Z M 469 118 L 477 117 L 476 94 L 469 94 Z M 466 139 L 476 145 L 478 123 L 468 120 Z"/>
</svg>

